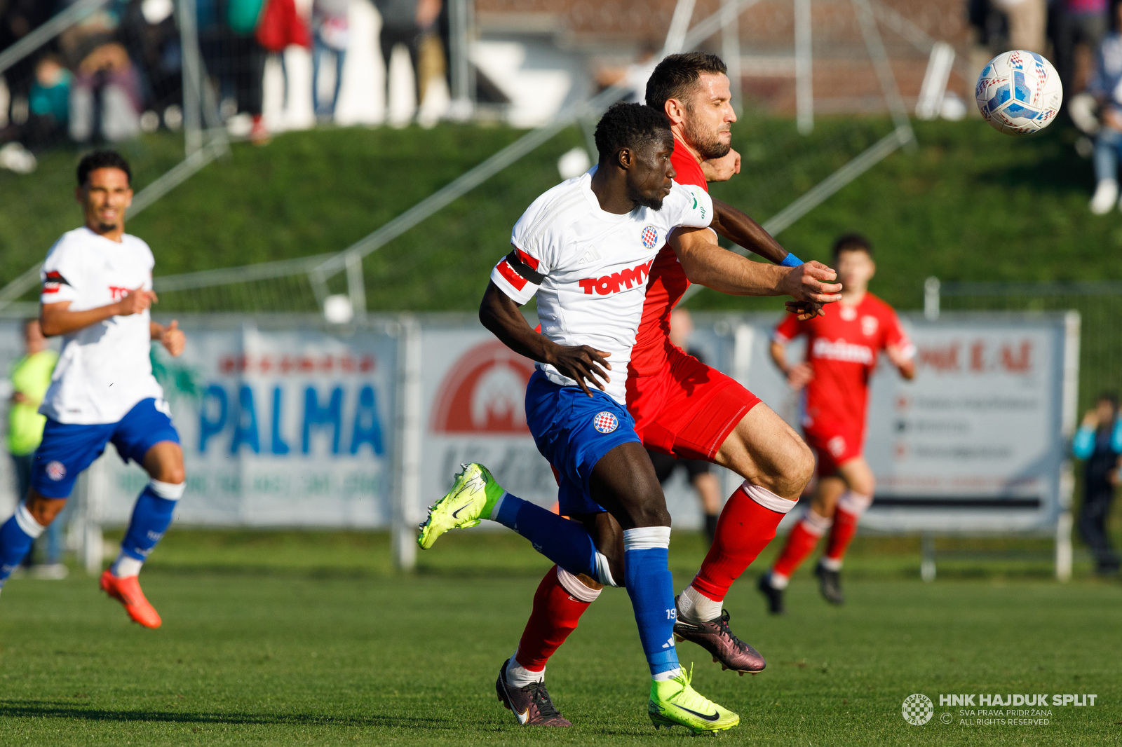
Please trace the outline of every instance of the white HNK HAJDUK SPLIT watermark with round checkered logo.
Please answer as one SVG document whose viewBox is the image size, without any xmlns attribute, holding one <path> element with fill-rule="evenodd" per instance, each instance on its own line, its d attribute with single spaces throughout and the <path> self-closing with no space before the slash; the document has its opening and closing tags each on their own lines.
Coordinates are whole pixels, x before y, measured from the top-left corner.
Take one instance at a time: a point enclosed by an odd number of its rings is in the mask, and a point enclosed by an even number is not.
<svg viewBox="0 0 1122 747">
<path fill-rule="evenodd" d="M 1091 707 L 1098 695 L 1092 693 L 1028 693 L 1028 694 L 960 694 L 939 695 L 940 707 L 957 708 L 957 713 L 945 711 L 939 714 L 940 723 L 959 726 L 1048 726 L 1054 708 Z M 913 693 L 904 699 L 901 713 L 908 723 L 923 726 L 935 714 L 935 704 L 922 693 Z"/>
</svg>

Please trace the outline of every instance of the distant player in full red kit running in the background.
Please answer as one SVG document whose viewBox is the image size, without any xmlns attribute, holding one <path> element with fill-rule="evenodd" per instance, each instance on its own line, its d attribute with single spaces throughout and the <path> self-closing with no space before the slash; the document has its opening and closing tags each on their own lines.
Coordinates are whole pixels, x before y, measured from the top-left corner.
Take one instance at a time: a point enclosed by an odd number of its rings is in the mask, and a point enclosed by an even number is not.
<svg viewBox="0 0 1122 747">
<path fill-rule="evenodd" d="M 849 233 L 834 243 L 834 266 L 842 279 L 842 302 L 825 314 L 800 322 L 784 319 L 772 338 L 771 354 L 792 389 L 803 390 L 802 427 L 818 455 L 813 501 L 794 525 L 771 571 L 760 578 L 760 591 L 773 614 L 783 612 L 783 589 L 799 563 L 829 529 L 826 553 L 815 574 L 827 601 L 840 605 L 840 569 L 857 522 L 873 502 L 876 480 L 863 455 L 868 379 L 883 350 L 905 379 L 916 376 L 916 347 L 908 339 L 892 307 L 868 293 L 876 271 L 873 247 Z M 807 335 L 807 357 L 787 360 L 787 344 Z"/>
</svg>

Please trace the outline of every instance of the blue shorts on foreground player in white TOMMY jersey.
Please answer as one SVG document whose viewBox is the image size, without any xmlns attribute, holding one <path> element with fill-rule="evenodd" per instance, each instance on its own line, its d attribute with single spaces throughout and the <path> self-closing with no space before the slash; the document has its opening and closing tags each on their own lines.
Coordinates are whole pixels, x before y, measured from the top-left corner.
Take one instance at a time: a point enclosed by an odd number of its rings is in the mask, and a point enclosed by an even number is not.
<svg viewBox="0 0 1122 747">
<path fill-rule="evenodd" d="M 537 451 L 558 471 L 558 507 L 562 516 L 598 514 L 590 497 L 592 468 L 622 443 L 642 443 L 627 408 L 599 389 L 553 384 L 540 370 L 526 385 L 526 424 Z"/>
</svg>

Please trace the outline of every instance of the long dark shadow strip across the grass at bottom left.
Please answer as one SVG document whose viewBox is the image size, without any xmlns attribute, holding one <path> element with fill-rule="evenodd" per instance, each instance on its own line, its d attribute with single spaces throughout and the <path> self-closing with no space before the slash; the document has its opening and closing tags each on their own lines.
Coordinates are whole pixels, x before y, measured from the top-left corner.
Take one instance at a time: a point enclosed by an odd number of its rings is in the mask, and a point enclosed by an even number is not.
<svg viewBox="0 0 1122 747">
<path fill-rule="evenodd" d="M 405 729 L 459 729 L 452 719 L 419 718 L 411 716 L 335 717 L 311 713 L 199 713 L 177 711 L 134 711 L 81 708 L 65 701 L 0 700 L 0 718 L 79 719 L 83 721 L 138 721 L 165 723 L 240 723 L 240 725 L 304 725 L 341 727 L 383 727 Z"/>
</svg>

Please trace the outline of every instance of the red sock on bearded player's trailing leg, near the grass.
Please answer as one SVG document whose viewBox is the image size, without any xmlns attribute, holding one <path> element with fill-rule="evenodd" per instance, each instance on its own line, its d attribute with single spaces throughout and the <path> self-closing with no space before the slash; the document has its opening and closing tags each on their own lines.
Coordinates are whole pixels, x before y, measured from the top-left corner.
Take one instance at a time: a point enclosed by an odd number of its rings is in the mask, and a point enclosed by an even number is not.
<svg viewBox="0 0 1122 747">
<path fill-rule="evenodd" d="M 544 671 L 550 656 L 577 629 L 580 616 L 599 596 L 599 589 L 589 589 L 557 565 L 551 568 L 534 592 L 534 611 L 518 642 L 517 663 L 531 672 Z"/>
</svg>

